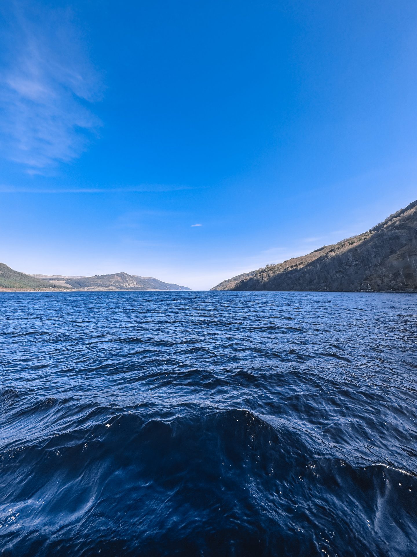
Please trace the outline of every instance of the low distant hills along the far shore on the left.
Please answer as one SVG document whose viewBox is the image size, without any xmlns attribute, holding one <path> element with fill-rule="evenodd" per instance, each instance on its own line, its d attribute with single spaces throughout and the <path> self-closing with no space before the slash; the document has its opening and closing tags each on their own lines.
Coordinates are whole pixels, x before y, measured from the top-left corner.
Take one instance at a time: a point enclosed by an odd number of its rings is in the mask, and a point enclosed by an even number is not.
<svg viewBox="0 0 417 557">
<path fill-rule="evenodd" d="M 62 275 L 26 275 L 14 271 L 0 263 L 0 289 L 2 290 L 191 290 L 162 282 L 153 277 L 128 275 L 125 272 L 112 275 L 62 276 Z"/>
</svg>

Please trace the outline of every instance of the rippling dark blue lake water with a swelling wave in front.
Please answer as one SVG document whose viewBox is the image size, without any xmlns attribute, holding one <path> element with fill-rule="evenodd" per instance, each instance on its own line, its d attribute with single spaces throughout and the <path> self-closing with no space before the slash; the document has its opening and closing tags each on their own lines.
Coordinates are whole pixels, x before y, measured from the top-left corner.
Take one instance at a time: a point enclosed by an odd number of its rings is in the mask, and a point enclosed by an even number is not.
<svg viewBox="0 0 417 557">
<path fill-rule="evenodd" d="M 0 294 L 0 552 L 417 555 L 417 296 Z"/>
</svg>

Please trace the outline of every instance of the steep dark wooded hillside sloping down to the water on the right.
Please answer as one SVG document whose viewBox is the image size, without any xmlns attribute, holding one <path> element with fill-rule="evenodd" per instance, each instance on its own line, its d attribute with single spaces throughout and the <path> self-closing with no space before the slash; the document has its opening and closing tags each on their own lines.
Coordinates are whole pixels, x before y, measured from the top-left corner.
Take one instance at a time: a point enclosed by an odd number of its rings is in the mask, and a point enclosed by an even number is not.
<svg viewBox="0 0 417 557">
<path fill-rule="evenodd" d="M 211 290 L 417 292 L 417 201 L 368 232 Z"/>
</svg>

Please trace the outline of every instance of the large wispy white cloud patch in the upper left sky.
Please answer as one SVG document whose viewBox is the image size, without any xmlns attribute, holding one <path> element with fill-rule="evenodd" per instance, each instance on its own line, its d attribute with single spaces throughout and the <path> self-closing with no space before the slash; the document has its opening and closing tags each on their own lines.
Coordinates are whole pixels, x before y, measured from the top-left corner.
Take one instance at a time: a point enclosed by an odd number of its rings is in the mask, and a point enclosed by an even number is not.
<svg viewBox="0 0 417 557">
<path fill-rule="evenodd" d="M 0 132 L 3 155 L 30 173 L 44 173 L 86 149 L 100 127 L 90 105 L 102 85 L 85 42 L 63 9 L 36 11 L 5 3 L 2 33 Z"/>
</svg>

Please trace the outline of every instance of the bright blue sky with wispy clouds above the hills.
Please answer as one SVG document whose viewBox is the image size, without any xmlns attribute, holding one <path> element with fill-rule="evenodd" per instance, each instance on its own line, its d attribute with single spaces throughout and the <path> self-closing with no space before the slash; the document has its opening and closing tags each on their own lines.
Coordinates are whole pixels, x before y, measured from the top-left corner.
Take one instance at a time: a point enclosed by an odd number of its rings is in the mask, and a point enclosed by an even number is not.
<svg viewBox="0 0 417 557">
<path fill-rule="evenodd" d="M 19 271 L 208 289 L 417 198 L 415 2 L 1 16 L 0 261 Z"/>
</svg>

